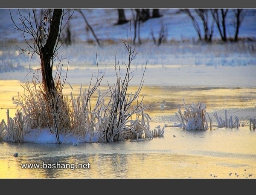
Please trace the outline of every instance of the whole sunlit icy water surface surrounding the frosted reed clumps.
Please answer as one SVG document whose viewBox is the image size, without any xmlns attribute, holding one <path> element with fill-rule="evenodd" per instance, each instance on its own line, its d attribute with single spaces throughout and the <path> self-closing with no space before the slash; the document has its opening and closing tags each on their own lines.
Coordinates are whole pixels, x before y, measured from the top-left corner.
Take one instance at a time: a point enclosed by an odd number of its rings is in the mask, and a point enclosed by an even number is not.
<svg viewBox="0 0 256 195">
<path fill-rule="evenodd" d="M 6 119 L 7 108 L 11 116 L 16 110 L 12 97 L 17 98 L 20 83 L 0 81 L 0 86 L 0 116 Z M 73 90 L 79 92 L 79 87 Z M 177 122 L 175 112 L 183 109 L 183 99 L 188 105 L 205 103 L 210 116 L 218 112 L 224 117 L 227 109 L 228 116 L 238 116 L 245 126 L 206 131 L 165 127 L 162 138 L 78 146 L 0 141 L 0 178 L 256 178 L 256 131 L 248 126 L 256 113 L 255 88 L 145 86 L 141 94 L 144 105 L 149 105 L 152 130 Z M 49 167 L 57 163 L 74 167 Z M 22 164 L 39 168 L 22 169 Z M 79 164 L 87 167 L 78 168 Z"/>
</svg>

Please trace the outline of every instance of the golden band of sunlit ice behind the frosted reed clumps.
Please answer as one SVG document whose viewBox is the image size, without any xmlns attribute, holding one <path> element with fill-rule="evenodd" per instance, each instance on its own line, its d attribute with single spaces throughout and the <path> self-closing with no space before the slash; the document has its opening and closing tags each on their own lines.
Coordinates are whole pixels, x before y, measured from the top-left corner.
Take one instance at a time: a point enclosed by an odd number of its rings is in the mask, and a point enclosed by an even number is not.
<svg viewBox="0 0 256 195">
<path fill-rule="evenodd" d="M 0 118 L 6 119 L 6 110 L 9 109 L 10 116 L 15 116 L 17 110 L 13 104 L 18 93 L 23 95 L 23 85 L 16 80 L 0 80 Z M 78 96 L 80 88 L 88 90 L 88 86 L 65 85 L 63 93 L 70 98 L 70 93 Z M 103 94 L 108 89 L 107 86 L 100 86 L 100 92 Z M 134 94 L 138 86 L 130 86 L 128 93 Z M 192 102 L 203 102 L 208 111 L 229 108 L 247 108 L 256 107 L 255 101 L 256 88 L 206 88 L 206 87 L 167 87 L 167 86 L 143 86 L 139 98 L 143 99 L 143 105 L 149 105 L 145 112 L 150 116 L 158 114 L 175 114 L 178 109 L 183 108 L 183 99 L 186 104 Z M 96 102 L 98 91 L 92 96 L 91 104 Z M 108 96 L 106 96 L 108 100 Z"/>
</svg>

